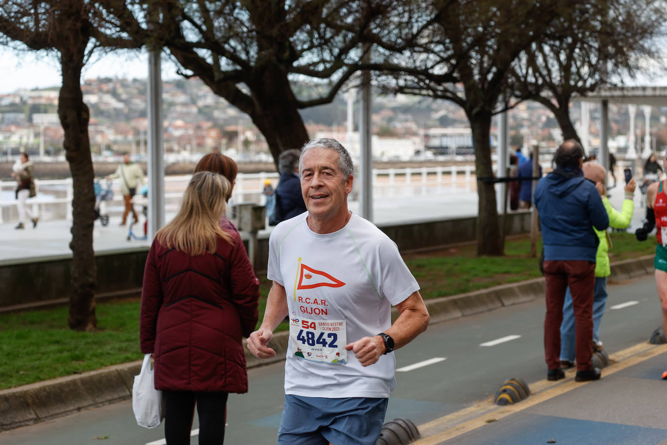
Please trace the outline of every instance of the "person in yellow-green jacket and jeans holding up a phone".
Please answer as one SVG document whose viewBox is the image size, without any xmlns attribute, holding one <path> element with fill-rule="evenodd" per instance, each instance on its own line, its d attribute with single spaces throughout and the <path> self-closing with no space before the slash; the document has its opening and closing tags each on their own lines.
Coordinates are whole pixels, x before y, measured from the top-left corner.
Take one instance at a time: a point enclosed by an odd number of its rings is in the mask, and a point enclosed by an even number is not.
<svg viewBox="0 0 667 445">
<path fill-rule="evenodd" d="M 630 225 L 632 219 L 632 212 L 634 211 L 634 189 L 636 183 L 634 179 L 630 179 L 625 186 L 625 199 L 623 200 L 623 207 L 621 211 L 617 211 L 612 207 L 609 199 L 606 197 L 605 180 L 607 177 L 606 169 L 597 162 L 585 162 L 582 166 L 584 170 L 584 177 L 595 183 L 602 203 L 609 215 L 609 226 L 617 229 L 624 229 Z M 611 240 L 606 230 L 595 230 L 596 235 L 600 239 L 598 245 L 598 252 L 596 254 L 595 264 L 595 291 L 593 300 L 593 344 L 594 350 L 602 350 L 602 342 L 600 342 L 600 320 L 604 314 L 604 306 L 607 302 L 607 277 L 610 276 L 611 270 L 609 267 L 609 256 L 607 255 Z M 570 288 L 565 294 L 565 303 L 563 304 L 563 322 L 560 325 L 560 367 L 572 368 L 574 366 L 574 310 L 572 309 L 572 296 L 570 295 Z"/>
</svg>

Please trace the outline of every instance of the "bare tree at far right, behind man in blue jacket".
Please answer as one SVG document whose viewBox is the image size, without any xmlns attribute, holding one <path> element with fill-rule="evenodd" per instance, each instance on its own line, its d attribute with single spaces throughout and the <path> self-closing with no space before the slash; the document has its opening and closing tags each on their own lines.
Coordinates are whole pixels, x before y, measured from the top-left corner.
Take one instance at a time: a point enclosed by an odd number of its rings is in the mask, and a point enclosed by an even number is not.
<svg viewBox="0 0 667 445">
<path fill-rule="evenodd" d="M 570 101 L 645 68 L 656 57 L 654 37 L 664 11 L 664 2 L 654 0 L 597 0 L 566 11 L 558 29 L 515 60 L 514 95 L 550 109 L 563 139 L 581 142 L 570 119 Z"/>
</svg>

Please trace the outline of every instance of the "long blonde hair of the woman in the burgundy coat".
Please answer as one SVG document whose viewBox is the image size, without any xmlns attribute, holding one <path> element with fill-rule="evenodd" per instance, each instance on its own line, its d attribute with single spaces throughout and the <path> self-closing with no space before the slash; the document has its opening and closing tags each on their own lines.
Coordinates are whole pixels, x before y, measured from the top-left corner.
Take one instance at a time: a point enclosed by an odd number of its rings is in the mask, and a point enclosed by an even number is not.
<svg viewBox="0 0 667 445">
<path fill-rule="evenodd" d="M 231 242 L 231 236 L 220 228 L 220 217 L 227 205 L 231 185 L 226 177 L 210 171 L 199 171 L 187 184 L 176 216 L 155 234 L 167 248 L 191 256 L 213 254 L 218 238 Z"/>
</svg>

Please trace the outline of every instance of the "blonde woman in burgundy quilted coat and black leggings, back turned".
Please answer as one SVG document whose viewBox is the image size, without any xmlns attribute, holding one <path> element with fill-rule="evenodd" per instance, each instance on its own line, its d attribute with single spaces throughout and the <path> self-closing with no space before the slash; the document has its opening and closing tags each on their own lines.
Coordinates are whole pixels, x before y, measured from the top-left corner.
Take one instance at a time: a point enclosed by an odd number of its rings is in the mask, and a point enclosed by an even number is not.
<svg viewBox="0 0 667 445">
<path fill-rule="evenodd" d="M 219 226 L 230 188 L 217 173 L 193 174 L 146 260 L 141 352 L 155 359 L 169 445 L 190 443 L 195 404 L 199 443 L 223 443 L 227 394 L 247 392 L 241 340 L 257 323 L 259 282 L 241 236 Z"/>
</svg>

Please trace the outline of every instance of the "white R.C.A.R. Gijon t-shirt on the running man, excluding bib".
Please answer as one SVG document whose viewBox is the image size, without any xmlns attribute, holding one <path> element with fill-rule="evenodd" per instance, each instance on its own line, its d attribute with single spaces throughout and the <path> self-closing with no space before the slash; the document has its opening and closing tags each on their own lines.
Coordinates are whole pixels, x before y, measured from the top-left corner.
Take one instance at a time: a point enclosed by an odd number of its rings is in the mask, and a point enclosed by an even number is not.
<svg viewBox="0 0 667 445">
<path fill-rule="evenodd" d="M 354 213 L 341 230 L 316 234 L 307 214 L 283 221 L 269 239 L 267 277 L 285 288 L 290 320 L 345 320 L 347 344 L 390 328 L 391 306 L 419 290 L 396 244 Z M 290 338 L 285 394 L 386 398 L 396 386 L 393 352 L 364 368 L 352 351 L 344 364 L 321 363 L 293 354 L 295 346 Z"/>
</svg>

